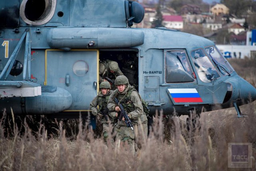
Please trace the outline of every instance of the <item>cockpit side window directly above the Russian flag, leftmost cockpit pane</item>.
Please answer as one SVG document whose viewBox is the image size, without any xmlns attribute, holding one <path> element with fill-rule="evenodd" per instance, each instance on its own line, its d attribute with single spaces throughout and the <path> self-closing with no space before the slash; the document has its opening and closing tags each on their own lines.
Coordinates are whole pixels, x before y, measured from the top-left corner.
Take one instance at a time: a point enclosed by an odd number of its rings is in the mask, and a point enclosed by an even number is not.
<svg viewBox="0 0 256 171">
<path fill-rule="evenodd" d="M 165 62 L 166 83 L 194 82 L 186 51 L 167 51 Z"/>
</svg>

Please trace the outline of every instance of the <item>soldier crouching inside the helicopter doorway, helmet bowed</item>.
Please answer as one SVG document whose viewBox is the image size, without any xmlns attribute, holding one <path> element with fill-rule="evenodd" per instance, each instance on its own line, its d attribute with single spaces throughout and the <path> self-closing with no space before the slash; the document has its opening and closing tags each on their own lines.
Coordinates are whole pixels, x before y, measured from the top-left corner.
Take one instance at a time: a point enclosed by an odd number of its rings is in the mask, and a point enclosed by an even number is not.
<svg viewBox="0 0 256 171">
<path fill-rule="evenodd" d="M 124 75 L 120 70 L 118 63 L 112 60 L 105 60 L 100 63 L 100 83 L 106 81 L 104 78 L 108 77 L 111 80 L 115 80 L 117 76 Z M 116 87 L 111 86 L 112 89 Z"/>
</svg>

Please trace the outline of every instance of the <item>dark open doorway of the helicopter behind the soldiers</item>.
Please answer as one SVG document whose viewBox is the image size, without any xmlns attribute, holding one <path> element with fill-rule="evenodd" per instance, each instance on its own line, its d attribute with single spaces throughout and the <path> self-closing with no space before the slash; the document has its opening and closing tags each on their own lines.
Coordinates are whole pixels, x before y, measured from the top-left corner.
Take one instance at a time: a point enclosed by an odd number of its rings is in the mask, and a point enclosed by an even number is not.
<svg viewBox="0 0 256 171">
<path fill-rule="evenodd" d="M 124 76 L 128 78 L 130 85 L 138 90 L 138 51 L 100 50 L 100 63 L 106 60 L 117 62 Z"/>
</svg>

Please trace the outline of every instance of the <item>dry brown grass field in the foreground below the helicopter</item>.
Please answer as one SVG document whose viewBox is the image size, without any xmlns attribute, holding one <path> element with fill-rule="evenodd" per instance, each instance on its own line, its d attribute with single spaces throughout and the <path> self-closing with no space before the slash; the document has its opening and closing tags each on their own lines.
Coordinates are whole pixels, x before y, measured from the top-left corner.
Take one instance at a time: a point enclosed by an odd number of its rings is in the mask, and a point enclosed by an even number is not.
<svg viewBox="0 0 256 171">
<path fill-rule="evenodd" d="M 238 74 L 243 72 L 233 67 Z M 250 79 L 255 83 L 255 78 Z M 31 128 L 29 116 L 19 120 L 4 113 L 0 120 L 0 170 L 229 170 L 228 143 L 242 142 L 252 143 L 253 166 L 248 170 L 255 170 L 256 103 L 242 106 L 241 111 L 248 117 L 238 119 L 234 109 L 204 112 L 201 129 L 196 132 L 187 131 L 185 117 L 167 118 L 159 112 L 150 136 L 140 139 L 136 156 L 126 144 L 94 138 L 88 122 L 81 119 L 65 123 L 46 122 L 42 117 L 33 120 L 36 126 Z"/>
</svg>

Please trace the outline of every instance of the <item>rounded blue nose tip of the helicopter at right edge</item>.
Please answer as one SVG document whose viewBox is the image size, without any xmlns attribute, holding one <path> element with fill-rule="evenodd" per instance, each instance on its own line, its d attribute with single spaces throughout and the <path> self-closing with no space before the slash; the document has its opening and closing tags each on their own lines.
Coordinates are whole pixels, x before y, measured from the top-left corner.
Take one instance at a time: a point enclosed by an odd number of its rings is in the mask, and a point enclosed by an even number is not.
<svg viewBox="0 0 256 171">
<path fill-rule="evenodd" d="M 256 89 L 246 80 L 240 78 L 240 96 L 244 103 L 250 103 L 256 100 Z"/>
</svg>

